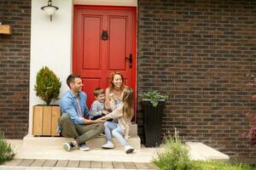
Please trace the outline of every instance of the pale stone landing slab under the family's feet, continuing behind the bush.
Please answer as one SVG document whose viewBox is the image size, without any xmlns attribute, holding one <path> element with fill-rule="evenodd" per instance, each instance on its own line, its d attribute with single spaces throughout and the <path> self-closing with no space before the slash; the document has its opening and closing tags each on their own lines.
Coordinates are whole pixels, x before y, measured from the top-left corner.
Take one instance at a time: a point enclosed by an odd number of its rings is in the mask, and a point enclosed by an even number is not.
<svg viewBox="0 0 256 170">
<path fill-rule="evenodd" d="M 131 154 L 125 154 L 123 149 L 102 150 L 91 149 L 89 151 L 72 150 L 67 152 L 62 149 L 61 145 L 50 145 L 52 141 L 49 139 L 49 145 L 41 144 L 22 144 L 23 140 L 8 140 L 9 143 L 15 145 L 15 159 L 43 159 L 43 160 L 69 160 L 69 161 L 122 161 L 122 162 L 150 162 L 156 156 L 156 152 L 162 150 L 159 148 L 145 148 L 141 145 L 139 150 L 135 150 Z M 229 156 L 215 150 L 206 144 L 199 142 L 187 142 L 189 147 L 189 157 L 191 160 L 200 161 L 228 161 Z"/>
</svg>

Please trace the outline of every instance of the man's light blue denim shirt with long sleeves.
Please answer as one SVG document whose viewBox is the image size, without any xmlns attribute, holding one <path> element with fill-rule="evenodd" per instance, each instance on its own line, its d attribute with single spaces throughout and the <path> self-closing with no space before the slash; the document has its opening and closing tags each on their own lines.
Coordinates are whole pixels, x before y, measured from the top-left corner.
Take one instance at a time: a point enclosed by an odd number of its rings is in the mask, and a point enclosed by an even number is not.
<svg viewBox="0 0 256 170">
<path fill-rule="evenodd" d="M 81 106 L 81 111 L 83 116 L 89 116 L 89 110 L 86 105 L 87 96 L 84 92 L 79 92 L 79 103 Z M 76 124 L 83 124 L 84 118 L 79 116 L 77 97 L 73 94 L 71 90 L 68 90 L 63 94 L 61 98 L 61 113 L 67 113 L 71 120 Z"/>
</svg>

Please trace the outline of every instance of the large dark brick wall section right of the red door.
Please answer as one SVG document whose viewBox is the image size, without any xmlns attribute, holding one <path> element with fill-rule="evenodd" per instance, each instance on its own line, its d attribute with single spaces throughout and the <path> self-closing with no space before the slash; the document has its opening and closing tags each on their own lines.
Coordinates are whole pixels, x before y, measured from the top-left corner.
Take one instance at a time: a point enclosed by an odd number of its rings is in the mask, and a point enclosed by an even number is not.
<svg viewBox="0 0 256 170">
<path fill-rule="evenodd" d="M 139 0 L 137 52 L 138 94 L 169 95 L 162 136 L 177 127 L 186 140 L 256 157 L 241 137 L 256 106 L 245 86 L 246 73 L 256 73 L 255 1 Z"/>
</svg>

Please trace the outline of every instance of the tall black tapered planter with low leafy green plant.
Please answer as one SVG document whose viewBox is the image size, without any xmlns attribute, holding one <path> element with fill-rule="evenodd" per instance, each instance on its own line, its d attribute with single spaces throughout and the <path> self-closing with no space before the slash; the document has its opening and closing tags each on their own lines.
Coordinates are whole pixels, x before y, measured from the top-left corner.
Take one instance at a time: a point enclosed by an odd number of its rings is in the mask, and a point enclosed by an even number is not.
<svg viewBox="0 0 256 170">
<path fill-rule="evenodd" d="M 168 96 L 161 95 L 158 91 L 145 92 L 141 96 L 143 98 L 145 145 L 155 147 L 161 143 L 162 116 Z"/>
</svg>

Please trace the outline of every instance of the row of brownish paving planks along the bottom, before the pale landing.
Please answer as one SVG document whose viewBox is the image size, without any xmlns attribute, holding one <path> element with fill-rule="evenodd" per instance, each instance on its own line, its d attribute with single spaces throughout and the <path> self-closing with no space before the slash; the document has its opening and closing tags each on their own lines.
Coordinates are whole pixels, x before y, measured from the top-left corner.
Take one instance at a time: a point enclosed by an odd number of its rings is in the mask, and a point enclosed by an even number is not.
<svg viewBox="0 0 256 170">
<path fill-rule="evenodd" d="M 151 162 L 123 161 L 73 161 L 73 160 L 41 160 L 14 159 L 3 164 L 4 167 L 77 167 L 92 169 L 159 169 Z M 1 166 L 0 166 L 1 169 Z"/>
</svg>

